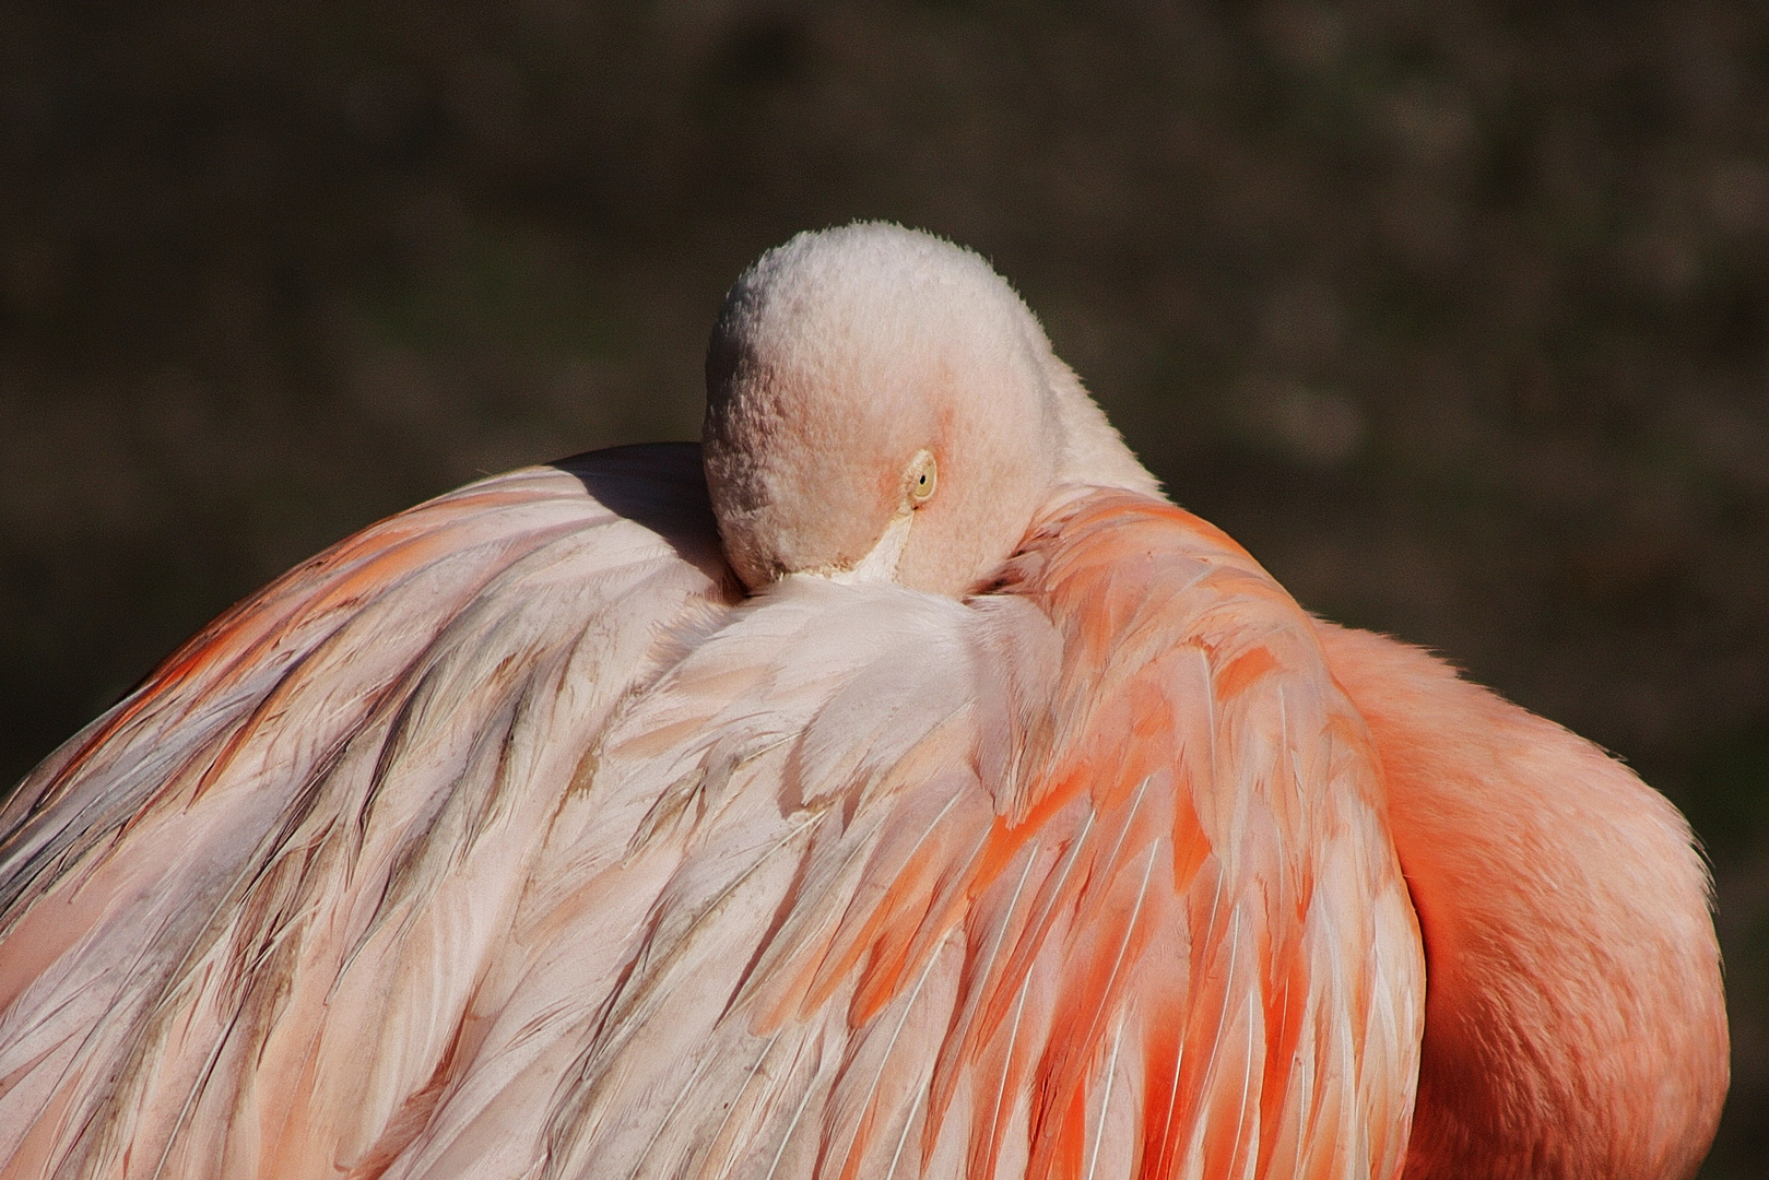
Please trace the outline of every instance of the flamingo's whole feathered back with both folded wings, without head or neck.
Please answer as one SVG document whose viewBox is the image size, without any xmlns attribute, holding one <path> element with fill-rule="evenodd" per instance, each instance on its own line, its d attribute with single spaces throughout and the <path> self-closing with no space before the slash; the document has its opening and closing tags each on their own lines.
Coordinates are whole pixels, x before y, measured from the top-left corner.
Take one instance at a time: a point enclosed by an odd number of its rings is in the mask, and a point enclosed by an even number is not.
<svg viewBox="0 0 1769 1180">
<path fill-rule="evenodd" d="M 1295 603 L 1106 492 L 968 603 L 732 603 L 692 456 L 377 525 L 28 780 L 9 1175 L 1396 1175 L 1417 931 Z"/>
</svg>

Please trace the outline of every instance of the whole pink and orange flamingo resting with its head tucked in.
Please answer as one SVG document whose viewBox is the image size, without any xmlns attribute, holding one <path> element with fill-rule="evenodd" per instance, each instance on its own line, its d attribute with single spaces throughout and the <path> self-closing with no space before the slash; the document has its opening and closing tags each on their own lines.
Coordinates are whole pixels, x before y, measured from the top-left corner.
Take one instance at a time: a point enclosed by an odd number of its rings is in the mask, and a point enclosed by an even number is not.
<svg viewBox="0 0 1769 1180">
<path fill-rule="evenodd" d="M 334 545 L 0 831 L 5 1176 L 1675 1180 L 1727 1088 L 1670 803 L 890 225 L 738 280 L 701 448 Z"/>
</svg>

